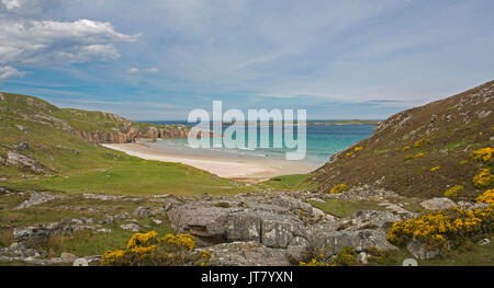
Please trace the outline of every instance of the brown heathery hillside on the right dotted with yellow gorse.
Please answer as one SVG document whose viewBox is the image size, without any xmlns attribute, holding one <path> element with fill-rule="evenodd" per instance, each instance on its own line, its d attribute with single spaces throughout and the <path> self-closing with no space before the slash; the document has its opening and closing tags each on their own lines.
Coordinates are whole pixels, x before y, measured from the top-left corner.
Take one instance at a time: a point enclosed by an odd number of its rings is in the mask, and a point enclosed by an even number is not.
<svg viewBox="0 0 494 288">
<path fill-rule="evenodd" d="M 369 184 L 403 196 L 442 196 L 453 185 L 457 199 L 472 199 L 482 188 L 472 178 L 483 163 L 472 151 L 492 147 L 494 81 L 463 93 L 395 114 L 374 135 L 332 157 L 313 173 L 316 189 L 337 184 Z M 361 149 L 361 150 L 360 150 Z"/>
</svg>

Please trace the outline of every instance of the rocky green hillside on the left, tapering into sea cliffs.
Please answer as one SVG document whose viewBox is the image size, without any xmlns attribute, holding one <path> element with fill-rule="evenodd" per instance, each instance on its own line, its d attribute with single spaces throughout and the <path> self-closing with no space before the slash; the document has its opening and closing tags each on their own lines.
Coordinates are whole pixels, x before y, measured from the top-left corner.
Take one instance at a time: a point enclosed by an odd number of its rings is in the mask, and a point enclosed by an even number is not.
<svg viewBox="0 0 494 288">
<path fill-rule="evenodd" d="M 106 166 L 126 158 L 96 146 L 138 138 L 184 137 L 182 125 L 150 125 L 119 115 L 58 108 L 46 101 L 0 93 L 0 177 Z"/>
</svg>

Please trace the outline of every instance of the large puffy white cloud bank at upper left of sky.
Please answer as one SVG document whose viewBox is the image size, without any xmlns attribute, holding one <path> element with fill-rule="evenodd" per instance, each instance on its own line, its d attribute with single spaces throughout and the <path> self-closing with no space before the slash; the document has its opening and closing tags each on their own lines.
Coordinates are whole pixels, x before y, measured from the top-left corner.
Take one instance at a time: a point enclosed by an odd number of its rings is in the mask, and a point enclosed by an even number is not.
<svg viewBox="0 0 494 288">
<path fill-rule="evenodd" d="M 116 42 L 138 35 L 114 31 L 108 22 L 11 20 L 0 18 L 0 64 L 74 64 L 120 57 Z"/>
</svg>

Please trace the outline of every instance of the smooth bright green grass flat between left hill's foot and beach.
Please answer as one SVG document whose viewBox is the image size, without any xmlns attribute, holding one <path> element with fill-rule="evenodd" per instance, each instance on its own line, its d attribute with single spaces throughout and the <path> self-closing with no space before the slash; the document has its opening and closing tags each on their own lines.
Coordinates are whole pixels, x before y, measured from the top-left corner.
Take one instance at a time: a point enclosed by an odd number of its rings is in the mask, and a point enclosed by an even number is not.
<svg viewBox="0 0 494 288">
<path fill-rule="evenodd" d="M 120 165 L 65 173 L 0 185 L 18 189 L 63 191 L 70 194 L 101 193 L 146 196 L 177 194 L 194 196 L 234 195 L 251 188 L 179 163 L 132 159 Z"/>
</svg>

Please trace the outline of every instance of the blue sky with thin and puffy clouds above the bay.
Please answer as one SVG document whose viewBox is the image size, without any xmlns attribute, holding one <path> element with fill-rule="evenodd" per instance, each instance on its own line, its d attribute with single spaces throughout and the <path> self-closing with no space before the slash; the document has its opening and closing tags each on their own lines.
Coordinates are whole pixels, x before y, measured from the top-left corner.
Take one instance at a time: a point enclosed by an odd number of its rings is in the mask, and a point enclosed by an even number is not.
<svg viewBox="0 0 494 288">
<path fill-rule="evenodd" d="M 383 119 L 494 79 L 492 0 L 0 0 L 0 91 L 134 120 Z"/>
</svg>

